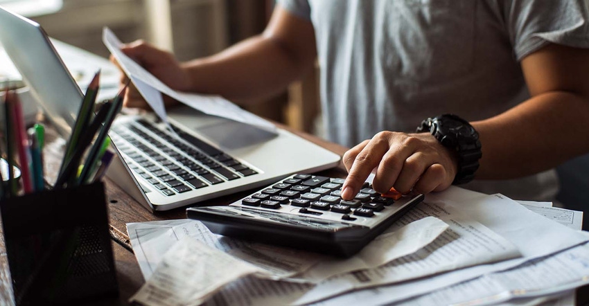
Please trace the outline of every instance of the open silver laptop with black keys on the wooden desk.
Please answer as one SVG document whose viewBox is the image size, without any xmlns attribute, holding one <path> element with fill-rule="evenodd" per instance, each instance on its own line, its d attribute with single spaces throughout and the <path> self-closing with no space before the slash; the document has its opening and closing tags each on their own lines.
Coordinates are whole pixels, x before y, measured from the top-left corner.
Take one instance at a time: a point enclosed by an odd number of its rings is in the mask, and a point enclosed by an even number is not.
<svg viewBox="0 0 589 306">
<path fill-rule="evenodd" d="M 0 44 L 67 138 L 82 91 L 39 24 L 0 7 Z M 83 61 L 82 61 L 83 62 Z M 91 61 L 87 61 L 91 62 Z M 279 128 L 276 134 L 191 109 L 118 116 L 109 136 L 118 158 L 107 176 L 151 210 L 170 210 L 332 168 L 340 156 Z"/>
</svg>

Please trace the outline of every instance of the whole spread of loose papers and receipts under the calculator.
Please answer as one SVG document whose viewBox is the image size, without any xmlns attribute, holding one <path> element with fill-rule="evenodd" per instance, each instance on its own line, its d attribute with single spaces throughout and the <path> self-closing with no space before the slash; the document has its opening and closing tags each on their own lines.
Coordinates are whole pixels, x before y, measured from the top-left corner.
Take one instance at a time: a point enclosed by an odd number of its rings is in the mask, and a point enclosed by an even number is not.
<svg viewBox="0 0 589 306">
<path fill-rule="evenodd" d="M 521 305 L 589 283 L 582 213 L 452 186 L 352 258 L 235 240 L 189 219 L 127 224 L 144 305 Z M 574 302 L 572 302 L 574 303 Z"/>
</svg>

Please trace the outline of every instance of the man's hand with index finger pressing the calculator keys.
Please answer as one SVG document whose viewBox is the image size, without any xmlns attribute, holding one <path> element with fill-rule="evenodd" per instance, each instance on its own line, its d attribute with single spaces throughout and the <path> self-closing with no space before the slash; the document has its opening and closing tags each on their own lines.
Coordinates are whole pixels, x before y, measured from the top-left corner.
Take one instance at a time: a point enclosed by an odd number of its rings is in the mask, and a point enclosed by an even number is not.
<svg viewBox="0 0 589 306">
<path fill-rule="evenodd" d="M 348 177 L 342 199 L 353 199 L 373 169 L 372 186 L 380 193 L 428 193 L 448 188 L 457 172 L 455 154 L 432 134 L 380 132 L 344 154 Z"/>
</svg>

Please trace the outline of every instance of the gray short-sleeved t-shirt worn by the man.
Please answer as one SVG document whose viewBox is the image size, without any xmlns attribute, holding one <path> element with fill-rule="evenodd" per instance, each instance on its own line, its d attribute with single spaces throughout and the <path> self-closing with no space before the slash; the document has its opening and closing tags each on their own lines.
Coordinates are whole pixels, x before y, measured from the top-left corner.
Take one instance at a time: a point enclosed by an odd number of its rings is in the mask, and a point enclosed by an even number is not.
<svg viewBox="0 0 589 306">
<path fill-rule="evenodd" d="M 549 42 L 589 48 L 586 0 L 278 3 L 313 23 L 327 136 L 349 147 L 383 130 L 414 132 L 439 114 L 500 114 L 529 98 L 523 57 Z M 468 187 L 545 200 L 557 185 L 550 171 Z"/>
</svg>

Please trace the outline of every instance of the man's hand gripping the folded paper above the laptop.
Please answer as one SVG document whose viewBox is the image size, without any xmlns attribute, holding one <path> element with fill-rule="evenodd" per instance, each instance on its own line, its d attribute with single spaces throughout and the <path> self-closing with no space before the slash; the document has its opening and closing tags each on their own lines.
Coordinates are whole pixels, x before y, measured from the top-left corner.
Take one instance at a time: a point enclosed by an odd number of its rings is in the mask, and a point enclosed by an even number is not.
<svg viewBox="0 0 589 306">
<path fill-rule="evenodd" d="M 191 89 L 190 78 L 188 73 L 182 69 L 182 66 L 177 62 L 172 53 L 162 51 L 142 40 L 132 42 L 121 48 L 121 51 L 131 57 L 139 65 L 143 66 L 147 71 L 155 75 L 161 82 L 168 85 L 171 89 L 179 91 L 189 91 Z M 114 59 L 110 57 L 111 62 L 116 64 L 119 69 L 121 66 Z M 123 69 L 121 69 L 123 71 Z M 128 76 L 123 72 L 121 77 L 121 87 L 128 81 Z M 164 97 L 166 105 L 174 104 L 169 97 Z M 141 96 L 141 93 L 137 91 L 132 84 L 128 87 L 125 92 L 125 98 L 123 100 L 123 106 L 125 107 L 138 107 L 148 109 L 149 105 Z"/>
</svg>

